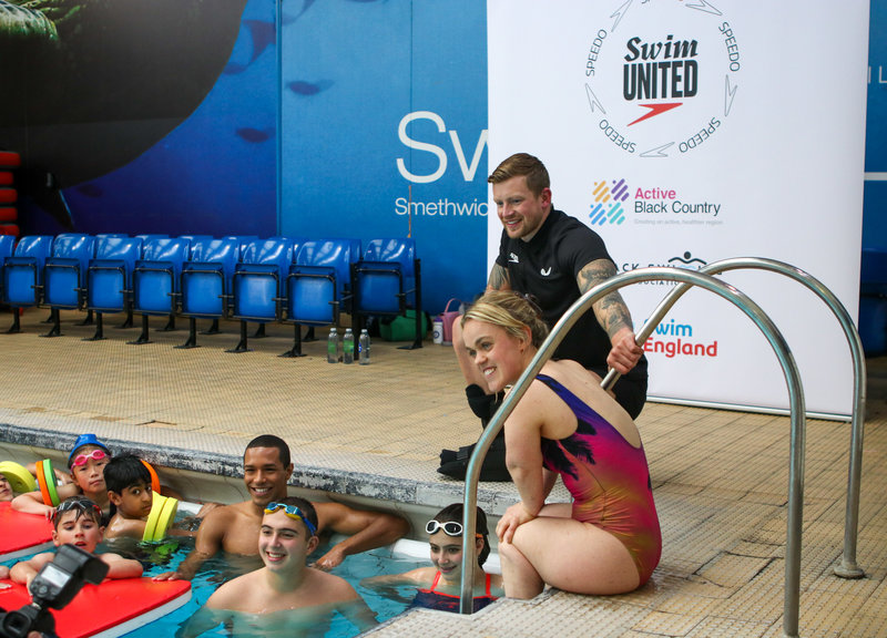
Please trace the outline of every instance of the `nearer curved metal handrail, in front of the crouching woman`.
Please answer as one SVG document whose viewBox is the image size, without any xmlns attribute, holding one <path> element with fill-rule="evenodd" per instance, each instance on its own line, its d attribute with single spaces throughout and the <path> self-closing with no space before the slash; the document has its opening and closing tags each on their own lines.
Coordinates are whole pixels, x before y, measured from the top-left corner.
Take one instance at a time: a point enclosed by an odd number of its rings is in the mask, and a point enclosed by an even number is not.
<svg viewBox="0 0 887 638">
<path fill-rule="evenodd" d="M 506 419 L 523 397 L 530 382 L 551 358 L 565 333 L 573 327 L 601 297 L 623 286 L 641 281 L 666 280 L 700 286 L 731 301 L 751 318 L 766 337 L 779 360 L 788 387 L 791 405 L 791 446 L 788 469 L 788 522 L 786 532 L 785 603 L 783 630 L 789 638 L 797 636 L 798 606 L 801 597 L 801 526 L 804 508 L 804 451 L 806 434 L 806 412 L 801 375 L 788 346 L 771 318 L 757 303 L 735 287 L 724 284 L 705 274 L 680 268 L 639 268 L 623 272 L 599 284 L 580 297 L 561 317 L 548 339 L 539 348 L 528 368 L 514 383 L 502 405 L 485 429 L 468 462 L 465 478 L 465 511 L 462 515 L 462 583 L 459 610 L 471 614 L 473 610 L 473 582 L 477 559 L 473 552 L 473 537 L 477 528 L 477 491 L 480 467 L 492 440 L 502 429 Z"/>
</svg>

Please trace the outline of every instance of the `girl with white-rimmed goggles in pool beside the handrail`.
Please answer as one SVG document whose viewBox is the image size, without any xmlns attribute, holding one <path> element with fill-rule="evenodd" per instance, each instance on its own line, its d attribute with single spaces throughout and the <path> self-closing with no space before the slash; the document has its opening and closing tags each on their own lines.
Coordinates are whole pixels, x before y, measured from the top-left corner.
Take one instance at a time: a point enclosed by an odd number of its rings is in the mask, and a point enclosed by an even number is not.
<svg viewBox="0 0 887 638">
<path fill-rule="evenodd" d="M 419 567 L 404 574 L 373 576 L 361 580 L 360 585 L 389 591 L 398 586 L 412 585 L 418 588 L 411 603 L 412 607 L 459 611 L 462 579 L 462 504 L 453 503 L 438 512 L 426 525 L 434 567 Z M 502 577 L 498 574 L 487 574 L 482 568 L 490 555 L 488 534 L 487 515 L 478 507 L 475 552 L 480 569 L 475 570 L 475 611 L 504 594 Z"/>
</svg>

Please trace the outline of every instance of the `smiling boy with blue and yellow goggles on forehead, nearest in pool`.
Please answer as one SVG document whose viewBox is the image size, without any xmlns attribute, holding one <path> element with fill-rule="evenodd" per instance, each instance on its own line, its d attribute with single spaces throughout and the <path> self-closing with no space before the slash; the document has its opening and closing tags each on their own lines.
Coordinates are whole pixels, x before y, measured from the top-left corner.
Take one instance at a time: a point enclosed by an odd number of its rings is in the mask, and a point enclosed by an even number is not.
<svg viewBox="0 0 887 638">
<path fill-rule="evenodd" d="M 361 631 L 375 626 L 373 611 L 344 578 L 307 566 L 318 543 L 310 503 L 295 496 L 268 503 L 258 536 L 265 566 L 216 589 L 176 638 L 200 636 L 222 622 L 234 636 L 323 636 L 334 611 Z"/>
</svg>

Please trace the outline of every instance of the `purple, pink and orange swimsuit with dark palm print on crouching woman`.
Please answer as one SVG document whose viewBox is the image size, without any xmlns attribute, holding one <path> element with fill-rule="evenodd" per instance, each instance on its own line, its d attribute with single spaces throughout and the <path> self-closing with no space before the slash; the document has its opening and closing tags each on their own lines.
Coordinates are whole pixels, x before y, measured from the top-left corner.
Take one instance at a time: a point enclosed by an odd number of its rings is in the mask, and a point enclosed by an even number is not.
<svg viewBox="0 0 887 638">
<path fill-rule="evenodd" d="M 643 445 L 632 446 L 551 377 L 539 374 L 537 379 L 567 403 L 578 422 L 575 432 L 565 439 L 542 439 L 544 466 L 561 475 L 573 496 L 573 518 L 605 529 L 625 546 L 643 585 L 662 553 Z"/>
</svg>

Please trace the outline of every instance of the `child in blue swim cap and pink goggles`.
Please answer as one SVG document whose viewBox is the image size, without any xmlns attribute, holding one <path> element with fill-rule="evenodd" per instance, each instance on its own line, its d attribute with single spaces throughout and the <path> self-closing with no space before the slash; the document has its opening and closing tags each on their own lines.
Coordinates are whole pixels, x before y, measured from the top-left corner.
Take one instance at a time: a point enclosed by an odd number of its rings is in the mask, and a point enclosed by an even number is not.
<svg viewBox="0 0 887 638">
<path fill-rule="evenodd" d="M 99 505 L 105 516 L 110 517 L 111 502 L 104 484 L 104 466 L 110 460 L 111 451 L 95 438 L 95 434 L 78 436 L 71 454 L 68 456 L 68 469 L 71 471 L 73 483 L 57 487 L 59 500 L 64 501 L 79 495 L 86 496 Z M 29 514 L 43 514 L 47 518 L 51 518 L 55 512 L 55 507 L 43 503 L 40 492 L 28 492 L 16 496 L 12 500 L 12 508 Z"/>
</svg>

